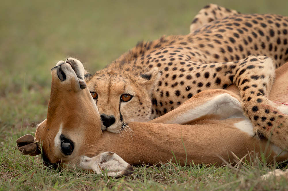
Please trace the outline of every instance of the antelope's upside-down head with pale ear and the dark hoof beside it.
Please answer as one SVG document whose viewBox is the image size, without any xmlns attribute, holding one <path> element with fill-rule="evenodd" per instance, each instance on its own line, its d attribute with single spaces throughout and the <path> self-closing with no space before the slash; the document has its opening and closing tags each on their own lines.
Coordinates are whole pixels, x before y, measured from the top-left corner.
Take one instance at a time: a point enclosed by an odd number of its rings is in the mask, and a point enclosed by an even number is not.
<svg viewBox="0 0 288 191">
<path fill-rule="evenodd" d="M 110 176 L 129 175 L 133 168 L 117 154 L 101 150 L 95 153 L 93 147 L 103 133 L 98 108 L 86 88 L 84 71 L 82 63 L 73 58 L 59 61 L 51 69 L 47 119 L 38 125 L 35 141 L 32 135 L 17 140 L 19 150 L 35 156 L 42 149 L 46 165 L 79 165 L 96 173 L 106 168 Z"/>
</svg>

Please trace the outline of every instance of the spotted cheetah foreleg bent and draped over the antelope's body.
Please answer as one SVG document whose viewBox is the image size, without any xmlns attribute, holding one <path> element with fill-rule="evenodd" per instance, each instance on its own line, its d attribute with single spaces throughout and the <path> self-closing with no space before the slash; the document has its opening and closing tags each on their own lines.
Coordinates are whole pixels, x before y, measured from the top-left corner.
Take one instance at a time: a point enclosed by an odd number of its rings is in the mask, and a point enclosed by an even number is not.
<svg viewBox="0 0 288 191">
<path fill-rule="evenodd" d="M 244 115 L 251 120 L 254 135 L 259 139 L 270 139 L 281 149 L 287 149 L 288 116 L 268 100 L 275 77 L 272 59 L 250 56 L 239 62 L 236 68 L 231 78 L 238 85 Z"/>
</svg>

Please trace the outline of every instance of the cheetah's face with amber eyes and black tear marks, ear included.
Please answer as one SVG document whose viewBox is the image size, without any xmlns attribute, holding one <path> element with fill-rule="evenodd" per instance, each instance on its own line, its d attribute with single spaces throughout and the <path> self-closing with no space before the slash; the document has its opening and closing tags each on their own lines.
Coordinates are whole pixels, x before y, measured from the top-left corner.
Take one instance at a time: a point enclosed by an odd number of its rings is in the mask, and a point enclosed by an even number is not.
<svg viewBox="0 0 288 191">
<path fill-rule="evenodd" d="M 87 81 L 101 116 L 101 129 L 120 133 L 132 121 L 147 122 L 151 114 L 151 91 L 158 81 L 158 68 L 133 76 L 126 71 L 103 69 Z"/>
</svg>

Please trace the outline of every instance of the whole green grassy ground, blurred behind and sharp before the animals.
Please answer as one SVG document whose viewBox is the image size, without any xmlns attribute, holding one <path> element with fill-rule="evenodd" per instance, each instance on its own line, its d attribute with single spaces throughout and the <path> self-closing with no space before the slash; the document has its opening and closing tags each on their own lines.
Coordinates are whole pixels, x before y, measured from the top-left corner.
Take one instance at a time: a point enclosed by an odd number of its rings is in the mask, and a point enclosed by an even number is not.
<svg viewBox="0 0 288 191">
<path fill-rule="evenodd" d="M 286 0 L 187 1 L 4 1 L 0 0 L 0 190 L 287 190 L 285 181 L 259 176 L 275 166 L 259 161 L 228 166 L 137 167 L 128 178 L 111 179 L 79 169 L 43 167 L 21 156 L 20 136 L 35 132 L 47 114 L 50 69 L 74 56 L 93 73 L 137 41 L 187 34 L 207 3 L 242 13 L 287 15 Z"/>
</svg>

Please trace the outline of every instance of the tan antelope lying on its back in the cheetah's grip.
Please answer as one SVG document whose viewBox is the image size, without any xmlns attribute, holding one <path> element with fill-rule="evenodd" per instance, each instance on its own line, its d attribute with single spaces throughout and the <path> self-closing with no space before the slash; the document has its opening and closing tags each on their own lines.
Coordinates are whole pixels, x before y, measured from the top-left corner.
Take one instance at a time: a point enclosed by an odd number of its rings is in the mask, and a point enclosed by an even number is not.
<svg viewBox="0 0 288 191">
<path fill-rule="evenodd" d="M 22 154 L 35 156 L 42 148 L 47 164 L 78 165 L 96 173 L 107 169 L 108 175 L 117 177 L 131 174 L 130 165 L 175 162 L 173 153 L 181 165 L 192 161 L 221 165 L 223 159 L 232 163 L 235 155 L 242 158 L 249 152 L 253 158 L 264 150 L 269 163 L 274 157 L 276 161 L 288 159 L 287 151 L 254 136 L 251 121 L 243 115 L 242 90 L 236 86 L 202 91 L 149 123 L 132 122 L 130 129 L 110 133 L 101 130 L 81 62 L 68 58 L 58 62 L 51 73 L 47 119 L 38 125 L 35 141 L 29 135 L 17 141 Z M 275 74 L 269 99 L 273 107 L 287 114 L 288 106 L 283 103 L 288 102 L 288 63 Z M 278 127 L 272 128 L 277 133 Z"/>
</svg>

